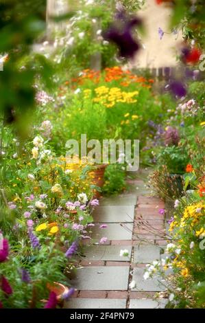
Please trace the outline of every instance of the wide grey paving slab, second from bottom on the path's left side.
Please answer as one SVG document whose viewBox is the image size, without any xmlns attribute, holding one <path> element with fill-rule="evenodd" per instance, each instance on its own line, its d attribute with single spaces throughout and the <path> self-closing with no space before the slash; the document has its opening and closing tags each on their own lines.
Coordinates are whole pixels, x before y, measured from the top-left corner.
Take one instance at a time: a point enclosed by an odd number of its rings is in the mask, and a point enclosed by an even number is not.
<svg viewBox="0 0 205 323">
<path fill-rule="evenodd" d="M 82 291 L 121 291 L 128 289 L 130 267 L 84 267 L 77 269 L 72 285 Z"/>
</svg>

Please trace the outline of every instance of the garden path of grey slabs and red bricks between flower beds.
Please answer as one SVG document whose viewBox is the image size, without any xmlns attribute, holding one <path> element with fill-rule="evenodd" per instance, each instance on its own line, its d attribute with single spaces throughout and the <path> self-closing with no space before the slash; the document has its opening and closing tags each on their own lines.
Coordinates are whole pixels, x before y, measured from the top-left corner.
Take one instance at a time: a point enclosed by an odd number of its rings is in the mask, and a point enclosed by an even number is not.
<svg viewBox="0 0 205 323">
<path fill-rule="evenodd" d="M 163 290 L 160 279 L 143 279 L 146 264 L 160 259 L 166 245 L 163 237 L 165 218 L 158 213 L 165 205 L 158 197 L 151 197 L 142 179 L 130 183 L 134 192 L 101 199 L 94 214 L 94 244 L 86 247 L 77 278 L 72 281 L 77 290 L 66 308 L 149 309 L 165 306 L 165 300 L 153 299 L 157 291 Z M 100 229 L 102 223 L 108 227 Z M 108 237 L 108 241 L 99 245 L 103 236 Z M 119 256 L 121 249 L 128 249 L 129 256 Z M 130 290 L 132 280 L 136 281 L 136 287 Z"/>
</svg>

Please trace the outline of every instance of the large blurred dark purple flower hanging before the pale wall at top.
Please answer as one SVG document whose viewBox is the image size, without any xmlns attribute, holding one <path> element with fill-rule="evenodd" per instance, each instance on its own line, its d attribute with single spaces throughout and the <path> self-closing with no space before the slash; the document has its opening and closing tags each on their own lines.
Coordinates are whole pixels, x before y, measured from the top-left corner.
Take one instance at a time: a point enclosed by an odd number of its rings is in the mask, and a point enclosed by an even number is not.
<svg viewBox="0 0 205 323">
<path fill-rule="evenodd" d="M 141 20 L 132 17 L 127 19 L 125 14 L 121 19 L 116 21 L 107 32 L 104 33 L 104 38 L 106 41 L 111 41 L 119 47 L 119 54 L 121 57 L 133 58 L 140 45 L 136 42 L 132 36 L 132 28 L 136 25 L 141 25 Z"/>
</svg>

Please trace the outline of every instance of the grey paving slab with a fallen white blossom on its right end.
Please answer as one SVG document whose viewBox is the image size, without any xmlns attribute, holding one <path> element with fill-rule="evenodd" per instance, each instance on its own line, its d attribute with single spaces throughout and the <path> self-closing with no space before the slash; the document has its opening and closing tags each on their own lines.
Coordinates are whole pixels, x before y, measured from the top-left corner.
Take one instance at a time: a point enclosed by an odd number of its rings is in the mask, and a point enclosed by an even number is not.
<svg viewBox="0 0 205 323">
<path fill-rule="evenodd" d="M 129 256 L 119 256 L 121 249 L 127 249 Z M 94 245 L 86 248 L 85 260 L 130 261 L 131 245 Z"/>
</svg>

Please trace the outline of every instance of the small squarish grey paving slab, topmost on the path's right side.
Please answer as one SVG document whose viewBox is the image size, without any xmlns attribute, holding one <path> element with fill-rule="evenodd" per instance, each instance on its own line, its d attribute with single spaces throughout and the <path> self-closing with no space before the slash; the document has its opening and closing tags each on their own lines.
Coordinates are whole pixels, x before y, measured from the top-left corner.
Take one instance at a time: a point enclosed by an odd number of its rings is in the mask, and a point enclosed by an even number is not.
<svg viewBox="0 0 205 323">
<path fill-rule="evenodd" d="M 152 263 L 160 260 L 160 247 L 151 244 L 139 243 L 134 247 L 134 263 Z"/>
</svg>

